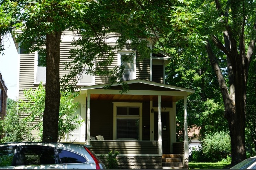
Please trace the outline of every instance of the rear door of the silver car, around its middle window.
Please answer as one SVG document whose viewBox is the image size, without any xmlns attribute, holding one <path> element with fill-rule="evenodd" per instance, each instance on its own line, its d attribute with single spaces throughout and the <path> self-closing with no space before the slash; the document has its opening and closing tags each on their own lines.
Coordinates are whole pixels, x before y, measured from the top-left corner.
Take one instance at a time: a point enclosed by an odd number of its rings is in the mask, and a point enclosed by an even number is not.
<svg viewBox="0 0 256 170">
<path fill-rule="evenodd" d="M 21 145 L 15 169 L 62 169 L 55 147 Z"/>
</svg>

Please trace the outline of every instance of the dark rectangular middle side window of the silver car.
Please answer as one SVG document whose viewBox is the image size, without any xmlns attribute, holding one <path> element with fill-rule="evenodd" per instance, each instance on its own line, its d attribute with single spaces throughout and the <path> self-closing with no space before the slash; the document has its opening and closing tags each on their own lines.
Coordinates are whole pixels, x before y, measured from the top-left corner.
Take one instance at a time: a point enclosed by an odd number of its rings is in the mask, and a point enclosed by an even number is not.
<svg viewBox="0 0 256 170">
<path fill-rule="evenodd" d="M 16 162 L 17 166 L 52 164 L 58 164 L 55 148 L 33 145 L 22 146 Z"/>
</svg>

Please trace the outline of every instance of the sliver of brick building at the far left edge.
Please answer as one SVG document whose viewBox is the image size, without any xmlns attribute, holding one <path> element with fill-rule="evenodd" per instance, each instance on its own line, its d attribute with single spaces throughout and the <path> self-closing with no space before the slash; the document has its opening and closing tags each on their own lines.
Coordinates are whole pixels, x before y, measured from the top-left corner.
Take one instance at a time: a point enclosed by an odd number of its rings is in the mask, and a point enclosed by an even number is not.
<svg viewBox="0 0 256 170">
<path fill-rule="evenodd" d="M 4 84 L 2 74 L 0 72 L 0 118 L 6 116 L 6 106 L 7 106 L 7 87 Z M 3 136 L 0 135 L 0 139 Z"/>
</svg>

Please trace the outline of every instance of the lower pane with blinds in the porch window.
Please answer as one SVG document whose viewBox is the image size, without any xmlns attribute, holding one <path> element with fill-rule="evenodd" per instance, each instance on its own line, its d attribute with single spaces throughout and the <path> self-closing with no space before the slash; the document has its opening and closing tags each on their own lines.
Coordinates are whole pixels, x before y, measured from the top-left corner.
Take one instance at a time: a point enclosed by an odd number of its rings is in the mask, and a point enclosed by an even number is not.
<svg viewBox="0 0 256 170">
<path fill-rule="evenodd" d="M 116 119 L 116 138 L 139 138 L 139 119 Z"/>
</svg>

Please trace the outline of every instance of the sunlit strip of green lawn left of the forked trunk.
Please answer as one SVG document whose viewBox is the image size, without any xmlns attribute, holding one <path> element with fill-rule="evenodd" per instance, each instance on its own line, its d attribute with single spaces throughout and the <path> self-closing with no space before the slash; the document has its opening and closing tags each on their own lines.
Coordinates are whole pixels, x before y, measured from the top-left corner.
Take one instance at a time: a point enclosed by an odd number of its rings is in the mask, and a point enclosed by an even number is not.
<svg viewBox="0 0 256 170">
<path fill-rule="evenodd" d="M 230 163 L 223 162 L 189 162 L 189 169 L 223 169 Z"/>
</svg>

